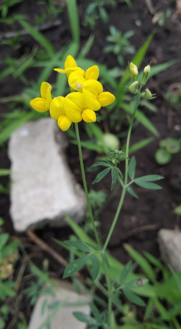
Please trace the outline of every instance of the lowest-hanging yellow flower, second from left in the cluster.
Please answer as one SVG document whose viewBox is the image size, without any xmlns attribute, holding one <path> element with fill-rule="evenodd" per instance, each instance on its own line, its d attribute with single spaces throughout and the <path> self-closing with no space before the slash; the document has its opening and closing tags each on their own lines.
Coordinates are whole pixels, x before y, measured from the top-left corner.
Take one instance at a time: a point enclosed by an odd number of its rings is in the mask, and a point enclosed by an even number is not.
<svg viewBox="0 0 181 329">
<path fill-rule="evenodd" d="M 63 104 L 65 97 L 59 96 L 53 98 L 50 105 L 50 115 L 54 120 L 58 120 L 58 126 L 61 130 L 66 131 L 71 126 L 71 120 L 65 114 Z"/>
</svg>

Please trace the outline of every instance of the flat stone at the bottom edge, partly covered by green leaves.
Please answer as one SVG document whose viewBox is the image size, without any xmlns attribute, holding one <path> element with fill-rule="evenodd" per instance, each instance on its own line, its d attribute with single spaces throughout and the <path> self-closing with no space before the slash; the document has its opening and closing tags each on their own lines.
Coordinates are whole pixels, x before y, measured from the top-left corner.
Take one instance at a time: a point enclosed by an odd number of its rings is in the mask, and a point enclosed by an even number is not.
<svg viewBox="0 0 181 329">
<path fill-rule="evenodd" d="M 57 289 L 54 290 L 54 297 L 50 294 L 39 296 L 33 308 L 28 329 L 39 328 L 50 317 L 51 329 L 86 329 L 85 322 L 78 321 L 72 312 L 84 312 L 88 315 L 91 314 L 88 302 L 91 301 L 91 296 L 84 293 L 78 294 L 73 285 L 64 280 L 53 280 Z M 63 301 L 67 303 L 81 302 L 82 306 L 64 306 L 58 309 L 54 316 L 51 317 L 52 312 L 56 308 L 56 304 Z M 55 308 L 51 308 L 52 306 Z M 44 306 L 44 307 L 43 307 Z M 42 312 L 44 308 L 44 312 Z M 44 327 L 44 326 L 43 326 Z M 43 328 L 42 327 L 42 328 Z M 46 327 L 46 326 L 45 326 Z"/>
</svg>

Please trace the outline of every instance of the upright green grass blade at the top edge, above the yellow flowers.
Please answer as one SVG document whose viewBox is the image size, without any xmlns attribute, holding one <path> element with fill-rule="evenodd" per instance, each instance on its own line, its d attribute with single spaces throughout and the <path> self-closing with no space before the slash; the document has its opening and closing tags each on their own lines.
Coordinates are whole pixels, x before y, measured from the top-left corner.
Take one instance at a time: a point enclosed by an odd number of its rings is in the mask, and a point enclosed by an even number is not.
<svg viewBox="0 0 181 329">
<path fill-rule="evenodd" d="M 69 15 L 69 22 L 71 28 L 72 39 L 79 45 L 80 43 L 80 29 L 79 29 L 79 13 L 76 0 L 67 0 L 67 11 Z"/>
</svg>

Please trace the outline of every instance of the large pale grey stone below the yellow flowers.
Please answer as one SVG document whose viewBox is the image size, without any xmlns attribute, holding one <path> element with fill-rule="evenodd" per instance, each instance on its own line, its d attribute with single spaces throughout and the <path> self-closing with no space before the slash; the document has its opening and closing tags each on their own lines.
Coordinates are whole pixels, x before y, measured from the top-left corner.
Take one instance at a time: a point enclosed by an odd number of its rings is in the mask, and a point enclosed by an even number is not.
<svg viewBox="0 0 181 329">
<path fill-rule="evenodd" d="M 87 202 L 66 162 L 67 145 L 52 118 L 29 121 L 11 135 L 10 215 L 16 231 L 65 226 L 65 213 L 83 220 Z"/>
</svg>

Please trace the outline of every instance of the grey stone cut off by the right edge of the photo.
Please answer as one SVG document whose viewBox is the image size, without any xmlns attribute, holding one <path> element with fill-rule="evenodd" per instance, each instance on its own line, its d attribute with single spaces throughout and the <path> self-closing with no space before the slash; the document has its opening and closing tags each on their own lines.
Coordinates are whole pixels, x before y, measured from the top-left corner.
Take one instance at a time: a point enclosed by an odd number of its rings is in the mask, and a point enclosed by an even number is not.
<svg viewBox="0 0 181 329">
<path fill-rule="evenodd" d="M 175 272 L 181 271 L 181 231 L 161 229 L 158 244 L 163 262 Z"/>
</svg>

